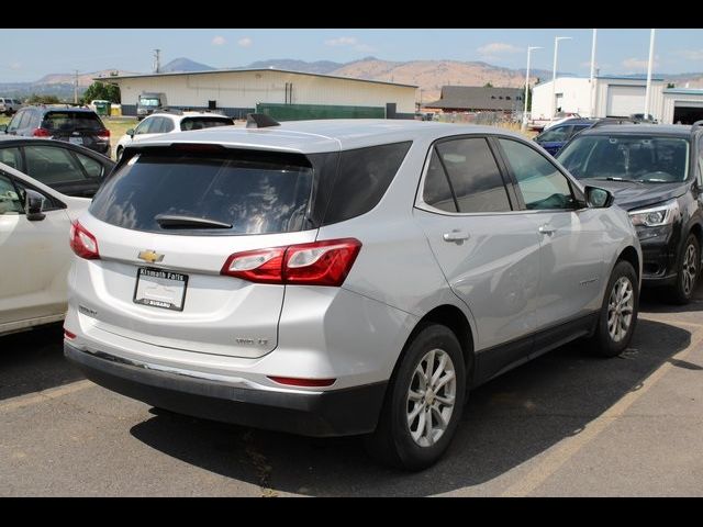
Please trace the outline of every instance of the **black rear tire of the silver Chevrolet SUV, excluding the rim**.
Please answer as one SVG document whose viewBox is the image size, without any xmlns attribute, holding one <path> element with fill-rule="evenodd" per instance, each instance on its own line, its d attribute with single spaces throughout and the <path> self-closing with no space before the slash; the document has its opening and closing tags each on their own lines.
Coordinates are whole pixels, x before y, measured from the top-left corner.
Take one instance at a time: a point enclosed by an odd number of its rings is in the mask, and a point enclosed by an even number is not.
<svg viewBox="0 0 703 527">
<path fill-rule="evenodd" d="M 415 422 L 408 424 L 408 411 L 410 404 L 425 404 L 426 399 L 422 399 L 423 403 L 411 403 L 408 395 L 411 383 L 414 382 L 415 369 L 425 360 L 426 355 L 435 349 L 445 351 L 454 366 L 454 408 L 444 433 L 436 442 L 421 446 L 411 436 L 411 426 Z M 437 370 L 435 369 L 435 371 Z M 443 393 L 446 396 L 446 392 L 442 390 L 444 389 L 438 390 L 437 393 Z M 465 395 L 466 366 L 456 335 L 451 329 L 440 324 L 423 327 L 409 343 L 406 352 L 388 386 L 378 427 L 373 434 L 365 438 L 367 450 L 381 463 L 400 469 L 422 470 L 434 464 L 451 442 L 464 410 Z M 434 395 L 431 394 L 431 396 L 432 403 Z M 429 411 L 429 415 L 433 415 L 432 411 Z M 435 417 L 431 417 L 431 419 L 437 422 Z M 420 429 L 419 423 L 416 428 Z"/>
</svg>

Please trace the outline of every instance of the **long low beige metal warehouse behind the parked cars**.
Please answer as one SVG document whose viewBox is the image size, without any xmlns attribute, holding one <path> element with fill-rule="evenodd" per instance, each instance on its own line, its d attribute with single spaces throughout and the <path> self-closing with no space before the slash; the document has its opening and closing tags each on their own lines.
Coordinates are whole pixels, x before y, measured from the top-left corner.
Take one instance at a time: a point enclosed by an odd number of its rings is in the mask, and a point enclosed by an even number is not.
<svg viewBox="0 0 703 527">
<path fill-rule="evenodd" d="M 161 92 L 177 109 L 217 110 L 242 119 L 267 113 L 278 120 L 325 117 L 412 119 L 415 86 L 282 69 L 101 77 L 118 85 L 122 113 L 136 115 L 140 93 Z"/>
</svg>

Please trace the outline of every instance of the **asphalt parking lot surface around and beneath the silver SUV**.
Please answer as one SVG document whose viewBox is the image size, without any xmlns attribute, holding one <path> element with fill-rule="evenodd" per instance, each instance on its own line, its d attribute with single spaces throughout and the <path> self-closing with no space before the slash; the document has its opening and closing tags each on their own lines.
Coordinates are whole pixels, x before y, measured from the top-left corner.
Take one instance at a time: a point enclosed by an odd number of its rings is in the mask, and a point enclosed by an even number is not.
<svg viewBox="0 0 703 527">
<path fill-rule="evenodd" d="M 645 294 L 615 359 L 572 344 L 472 393 L 443 460 L 157 414 L 63 358 L 60 325 L 0 337 L 0 495 L 701 496 L 703 288 Z"/>
</svg>

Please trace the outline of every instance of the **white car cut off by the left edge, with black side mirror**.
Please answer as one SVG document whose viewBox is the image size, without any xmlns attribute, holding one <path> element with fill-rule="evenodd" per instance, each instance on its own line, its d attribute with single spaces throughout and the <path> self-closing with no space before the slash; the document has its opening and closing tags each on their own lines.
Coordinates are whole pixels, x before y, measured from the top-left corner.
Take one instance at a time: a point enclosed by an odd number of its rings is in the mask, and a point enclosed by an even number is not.
<svg viewBox="0 0 703 527">
<path fill-rule="evenodd" d="M 89 204 L 0 162 L 0 335 L 64 318 L 70 225 Z"/>
</svg>

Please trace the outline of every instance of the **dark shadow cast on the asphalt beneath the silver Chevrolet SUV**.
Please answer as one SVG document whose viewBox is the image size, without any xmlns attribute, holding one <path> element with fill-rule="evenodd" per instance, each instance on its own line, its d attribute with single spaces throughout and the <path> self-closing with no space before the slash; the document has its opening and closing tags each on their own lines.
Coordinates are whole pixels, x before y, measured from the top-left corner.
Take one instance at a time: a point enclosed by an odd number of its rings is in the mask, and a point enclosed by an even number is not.
<svg viewBox="0 0 703 527">
<path fill-rule="evenodd" d="M 472 392 L 448 452 L 420 473 L 376 464 L 358 438 L 311 439 L 170 413 L 157 413 L 131 433 L 182 461 L 258 484 L 264 494 L 443 493 L 489 482 L 579 434 L 638 390 L 690 337 L 685 329 L 640 319 L 632 347 L 618 358 L 596 358 L 579 343 L 504 374 Z"/>
</svg>

